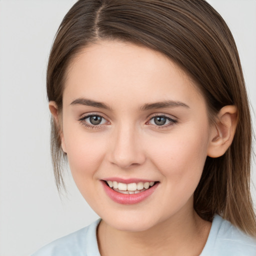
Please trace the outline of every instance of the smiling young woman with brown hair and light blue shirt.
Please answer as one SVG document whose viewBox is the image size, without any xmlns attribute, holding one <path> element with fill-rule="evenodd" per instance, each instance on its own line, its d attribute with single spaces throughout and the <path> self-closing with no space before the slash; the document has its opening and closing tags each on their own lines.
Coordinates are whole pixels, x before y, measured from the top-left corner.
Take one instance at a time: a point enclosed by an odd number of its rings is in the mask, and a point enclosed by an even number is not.
<svg viewBox="0 0 256 256">
<path fill-rule="evenodd" d="M 67 158 L 101 217 L 39 255 L 256 255 L 251 124 L 233 37 L 204 0 L 79 0 L 47 69 Z"/>
</svg>

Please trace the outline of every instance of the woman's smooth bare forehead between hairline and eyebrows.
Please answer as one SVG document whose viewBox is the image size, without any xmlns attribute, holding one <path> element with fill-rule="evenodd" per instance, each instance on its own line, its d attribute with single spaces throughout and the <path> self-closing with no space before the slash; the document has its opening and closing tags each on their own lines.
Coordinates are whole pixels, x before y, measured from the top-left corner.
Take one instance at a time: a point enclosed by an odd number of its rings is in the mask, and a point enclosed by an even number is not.
<svg viewBox="0 0 256 256">
<path fill-rule="evenodd" d="M 203 100 L 195 83 L 158 51 L 132 43 L 99 41 L 81 50 L 70 62 L 63 101 L 77 97 L 99 101 L 120 99 L 137 104 L 159 100 L 189 103 Z M 145 102 L 146 101 L 146 102 Z"/>
</svg>

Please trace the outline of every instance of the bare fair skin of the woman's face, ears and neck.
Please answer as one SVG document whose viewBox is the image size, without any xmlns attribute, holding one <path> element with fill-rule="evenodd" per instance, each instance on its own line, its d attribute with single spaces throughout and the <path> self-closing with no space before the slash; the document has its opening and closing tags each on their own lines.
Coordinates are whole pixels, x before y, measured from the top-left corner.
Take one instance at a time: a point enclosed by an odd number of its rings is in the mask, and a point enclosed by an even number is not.
<svg viewBox="0 0 256 256">
<path fill-rule="evenodd" d="M 108 108 L 77 103 L 81 98 Z M 182 104 L 145 109 L 170 100 Z M 223 154 L 232 141 L 234 106 L 223 107 L 210 125 L 202 94 L 171 60 L 131 43 L 99 41 L 69 64 L 61 118 L 55 102 L 49 107 L 74 181 L 102 218 L 102 256 L 200 254 L 211 223 L 195 213 L 193 192 L 206 156 Z M 89 114 L 102 116 L 101 123 L 91 124 Z M 156 125 L 155 115 L 170 120 Z M 119 204 L 103 189 L 107 177 L 159 184 L 145 200 Z"/>
</svg>

